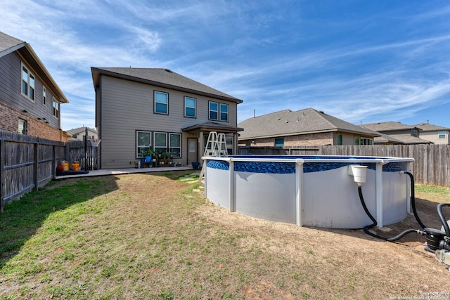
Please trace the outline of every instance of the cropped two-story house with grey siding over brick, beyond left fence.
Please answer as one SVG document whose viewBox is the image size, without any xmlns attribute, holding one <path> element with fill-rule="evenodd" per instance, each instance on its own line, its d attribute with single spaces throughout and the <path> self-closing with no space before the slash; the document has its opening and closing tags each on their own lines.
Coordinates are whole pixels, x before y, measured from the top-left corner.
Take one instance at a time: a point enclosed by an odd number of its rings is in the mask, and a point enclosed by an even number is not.
<svg viewBox="0 0 450 300">
<path fill-rule="evenodd" d="M 60 126 L 68 102 L 30 44 L 0 32 L 0 129 L 68 141 Z"/>
</svg>

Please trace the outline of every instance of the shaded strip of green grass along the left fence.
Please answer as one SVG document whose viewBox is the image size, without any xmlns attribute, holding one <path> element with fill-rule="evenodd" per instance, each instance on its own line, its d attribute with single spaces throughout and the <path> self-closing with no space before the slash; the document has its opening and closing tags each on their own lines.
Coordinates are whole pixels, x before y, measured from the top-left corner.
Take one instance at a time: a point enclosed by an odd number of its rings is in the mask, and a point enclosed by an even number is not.
<svg viewBox="0 0 450 300">
<path fill-rule="evenodd" d="M 108 176 L 51 181 L 44 188 L 7 203 L 0 214 L 0 268 L 18 254 L 51 214 L 116 190 L 116 180 Z"/>
</svg>

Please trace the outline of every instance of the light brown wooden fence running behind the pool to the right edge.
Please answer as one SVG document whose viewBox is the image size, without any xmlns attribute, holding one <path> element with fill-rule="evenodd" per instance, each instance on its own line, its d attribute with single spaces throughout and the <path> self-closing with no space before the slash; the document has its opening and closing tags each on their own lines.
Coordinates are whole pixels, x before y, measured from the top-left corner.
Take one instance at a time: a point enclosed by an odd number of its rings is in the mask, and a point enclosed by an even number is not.
<svg viewBox="0 0 450 300">
<path fill-rule="evenodd" d="M 416 183 L 450 187 L 450 145 L 239 147 L 238 154 L 412 157 L 411 173 Z"/>
</svg>

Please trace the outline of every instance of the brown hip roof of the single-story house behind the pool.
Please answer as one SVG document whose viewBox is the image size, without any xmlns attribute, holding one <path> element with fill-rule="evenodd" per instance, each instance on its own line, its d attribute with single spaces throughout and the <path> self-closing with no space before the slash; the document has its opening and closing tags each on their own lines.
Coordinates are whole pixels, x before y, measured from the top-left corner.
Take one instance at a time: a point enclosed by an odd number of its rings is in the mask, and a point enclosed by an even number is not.
<svg viewBox="0 0 450 300">
<path fill-rule="evenodd" d="M 356 133 L 371 137 L 380 136 L 378 132 L 350 124 L 313 108 L 295 112 L 292 110 L 272 112 L 267 115 L 246 119 L 240 122 L 238 126 L 244 129 L 240 133 L 240 140 L 333 131 Z"/>
</svg>

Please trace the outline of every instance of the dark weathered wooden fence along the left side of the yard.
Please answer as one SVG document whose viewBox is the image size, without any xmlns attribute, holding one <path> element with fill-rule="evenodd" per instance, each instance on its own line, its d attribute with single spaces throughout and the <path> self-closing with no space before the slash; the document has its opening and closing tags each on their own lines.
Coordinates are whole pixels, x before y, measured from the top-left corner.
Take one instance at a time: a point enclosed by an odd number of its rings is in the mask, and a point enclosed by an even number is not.
<svg viewBox="0 0 450 300">
<path fill-rule="evenodd" d="M 4 204 L 37 190 L 56 176 L 63 160 L 97 169 L 96 149 L 84 141 L 58 142 L 0 131 L 0 211 Z"/>
</svg>

